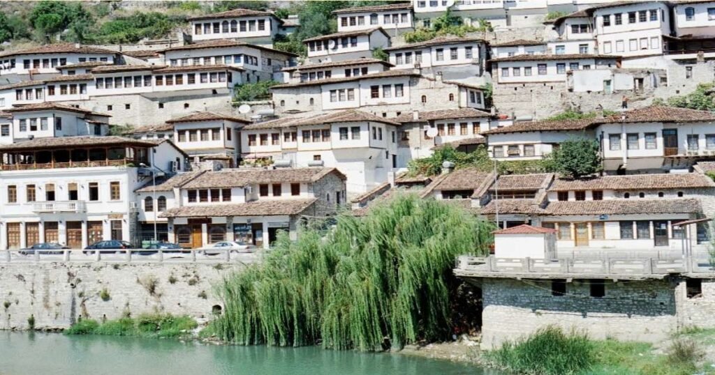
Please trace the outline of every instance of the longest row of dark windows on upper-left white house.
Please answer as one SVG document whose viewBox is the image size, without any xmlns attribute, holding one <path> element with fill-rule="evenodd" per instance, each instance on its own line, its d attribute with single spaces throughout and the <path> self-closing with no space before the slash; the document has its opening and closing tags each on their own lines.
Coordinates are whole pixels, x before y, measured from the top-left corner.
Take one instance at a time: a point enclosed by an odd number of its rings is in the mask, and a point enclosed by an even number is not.
<svg viewBox="0 0 715 375">
<path fill-rule="evenodd" d="M 186 74 L 187 84 L 196 84 L 197 74 Z M 199 83 L 207 84 L 209 82 L 226 82 L 233 81 L 231 72 L 219 71 L 217 73 L 201 73 L 199 74 Z M 149 87 L 152 86 L 152 76 L 124 76 L 124 77 L 107 77 L 98 78 L 95 80 L 97 89 L 122 89 L 122 87 L 130 89 L 132 87 Z M 184 84 L 184 74 L 167 74 L 164 76 L 154 76 L 154 85 L 156 86 L 174 86 Z"/>
</svg>

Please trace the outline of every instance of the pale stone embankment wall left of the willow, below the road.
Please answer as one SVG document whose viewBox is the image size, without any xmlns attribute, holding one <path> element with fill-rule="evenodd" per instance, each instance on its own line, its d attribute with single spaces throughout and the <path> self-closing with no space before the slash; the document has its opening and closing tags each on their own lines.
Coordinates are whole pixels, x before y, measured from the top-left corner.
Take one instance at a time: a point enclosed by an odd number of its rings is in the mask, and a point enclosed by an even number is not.
<svg viewBox="0 0 715 375">
<path fill-rule="evenodd" d="M 77 319 L 169 313 L 209 319 L 212 285 L 237 264 L 10 263 L 0 265 L 0 329 L 64 329 Z M 100 294 L 107 290 L 109 299 Z"/>
</svg>

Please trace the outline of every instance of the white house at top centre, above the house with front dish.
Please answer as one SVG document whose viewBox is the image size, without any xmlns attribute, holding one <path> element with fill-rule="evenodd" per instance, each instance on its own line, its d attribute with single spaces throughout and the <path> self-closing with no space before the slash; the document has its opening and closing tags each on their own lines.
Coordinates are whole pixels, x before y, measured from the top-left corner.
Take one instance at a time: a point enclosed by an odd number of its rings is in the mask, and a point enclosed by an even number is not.
<svg viewBox="0 0 715 375">
<path fill-rule="evenodd" d="M 414 29 L 412 4 L 359 6 L 332 11 L 337 16 L 337 31 L 358 31 L 382 27 L 390 36 Z"/>
</svg>

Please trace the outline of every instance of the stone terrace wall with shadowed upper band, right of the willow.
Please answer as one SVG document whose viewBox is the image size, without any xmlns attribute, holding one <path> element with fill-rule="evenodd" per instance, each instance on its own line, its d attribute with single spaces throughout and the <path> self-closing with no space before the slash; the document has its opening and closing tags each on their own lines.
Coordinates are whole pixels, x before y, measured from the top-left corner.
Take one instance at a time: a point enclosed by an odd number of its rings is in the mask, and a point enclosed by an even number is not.
<svg viewBox="0 0 715 375">
<path fill-rule="evenodd" d="M 669 281 L 606 281 L 606 295 L 591 297 L 589 283 L 573 280 L 566 295 L 551 295 L 551 280 L 483 279 L 482 347 L 555 325 L 587 331 L 594 339 L 656 342 L 677 329 Z M 714 286 L 715 289 L 715 286 Z"/>
</svg>

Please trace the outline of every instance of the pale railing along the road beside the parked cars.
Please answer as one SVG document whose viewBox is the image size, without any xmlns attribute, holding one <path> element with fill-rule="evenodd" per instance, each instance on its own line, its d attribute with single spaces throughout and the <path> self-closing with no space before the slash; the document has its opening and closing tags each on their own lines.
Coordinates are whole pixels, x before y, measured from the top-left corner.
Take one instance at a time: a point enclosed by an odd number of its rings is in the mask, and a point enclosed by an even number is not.
<svg viewBox="0 0 715 375">
<path fill-rule="evenodd" d="M 0 264 L 27 262 L 122 262 L 122 263 L 164 263 L 164 262 L 199 262 L 254 263 L 260 261 L 263 250 L 241 253 L 225 249 L 187 249 L 187 250 L 0 250 Z"/>
</svg>

